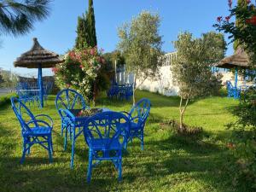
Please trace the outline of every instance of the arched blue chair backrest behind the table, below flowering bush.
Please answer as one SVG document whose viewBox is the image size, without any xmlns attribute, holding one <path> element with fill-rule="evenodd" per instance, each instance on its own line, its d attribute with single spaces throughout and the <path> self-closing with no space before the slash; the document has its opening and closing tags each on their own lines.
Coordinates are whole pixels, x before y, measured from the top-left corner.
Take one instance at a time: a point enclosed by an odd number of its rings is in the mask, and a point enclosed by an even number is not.
<svg viewBox="0 0 256 192">
<path fill-rule="evenodd" d="M 60 113 L 60 109 L 85 109 L 86 106 L 84 97 L 76 90 L 65 89 L 61 90 L 55 99 L 55 107 Z"/>
</svg>

